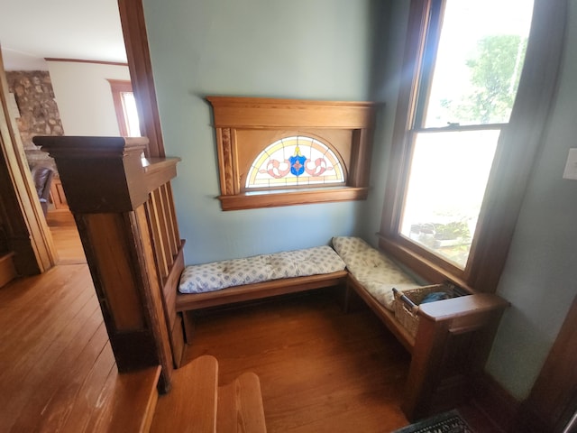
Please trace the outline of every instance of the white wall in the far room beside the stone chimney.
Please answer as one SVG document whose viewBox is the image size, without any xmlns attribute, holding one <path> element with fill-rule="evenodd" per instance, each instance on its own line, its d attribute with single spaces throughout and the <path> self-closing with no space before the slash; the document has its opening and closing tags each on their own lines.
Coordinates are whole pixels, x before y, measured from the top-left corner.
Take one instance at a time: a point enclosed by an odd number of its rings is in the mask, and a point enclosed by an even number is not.
<svg viewBox="0 0 577 433">
<path fill-rule="evenodd" d="M 130 80 L 127 66 L 75 61 L 48 61 L 50 79 L 64 134 L 118 136 L 110 84 Z"/>
</svg>

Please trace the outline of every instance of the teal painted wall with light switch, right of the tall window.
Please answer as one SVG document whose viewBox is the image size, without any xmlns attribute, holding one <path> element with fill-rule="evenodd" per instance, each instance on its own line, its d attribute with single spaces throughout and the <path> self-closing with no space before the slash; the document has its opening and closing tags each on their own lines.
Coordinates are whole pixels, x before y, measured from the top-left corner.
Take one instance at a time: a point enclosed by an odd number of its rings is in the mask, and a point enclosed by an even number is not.
<svg viewBox="0 0 577 433">
<path fill-rule="evenodd" d="M 498 293 L 512 306 L 487 370 L 517 399 L 530 392 L 577 295 L 577 180 L 563 180 L 577 147 L 577 1 L 568 2 L 559 89 Z"/>
</svg>

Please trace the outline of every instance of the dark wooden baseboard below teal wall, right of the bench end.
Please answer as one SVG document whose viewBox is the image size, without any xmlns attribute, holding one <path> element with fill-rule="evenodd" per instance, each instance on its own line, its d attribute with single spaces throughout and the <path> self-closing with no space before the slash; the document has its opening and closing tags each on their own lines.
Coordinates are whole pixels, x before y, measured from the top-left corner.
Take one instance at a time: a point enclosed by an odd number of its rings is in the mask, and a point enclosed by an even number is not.
<svg viewBox="0 0 577 433">
<path fill-rule="evenodd" d="M 481 410 L 502 432 L 515 431 L 521 403 L 489 373 L 481 373 L 472 382 L 472 404 Z"/>
</svg>

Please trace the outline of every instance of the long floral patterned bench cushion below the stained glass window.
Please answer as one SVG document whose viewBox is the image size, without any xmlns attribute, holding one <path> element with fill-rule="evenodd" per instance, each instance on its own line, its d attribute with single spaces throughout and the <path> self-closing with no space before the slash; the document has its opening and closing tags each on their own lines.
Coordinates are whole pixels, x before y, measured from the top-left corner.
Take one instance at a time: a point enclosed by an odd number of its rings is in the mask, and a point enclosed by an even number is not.
<svg viewBox="0 0 577 433">
<path fill-rule="evenodd" d="M 263 254 L 245 259 L 190 265 L 180 276 L 181 293 L 202 293 L 279 278 L 343 271 L 345 264 L 330 246 Z"/>
</svg>

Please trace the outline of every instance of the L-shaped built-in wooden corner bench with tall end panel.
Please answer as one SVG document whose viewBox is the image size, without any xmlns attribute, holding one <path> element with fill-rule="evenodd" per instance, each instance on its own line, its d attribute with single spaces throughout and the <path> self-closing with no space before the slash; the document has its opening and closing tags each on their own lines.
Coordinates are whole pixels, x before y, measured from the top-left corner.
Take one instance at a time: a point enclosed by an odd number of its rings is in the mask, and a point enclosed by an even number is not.
<svg viewBox="0 0 577 433">
<path fill-rule="evenodd" d="M 365 246 L 362 246 L 361 250 L 355 249 L 359 243 L 364 244 L 362 241 L 341 238 L 341 242 L 343 240 L 344 244 L 337 244 L 335 249 L 342 254 L 345 263 L 347 248 L 356 254 L 348 257 L 350 261 L 347 266 L 351 266 L 348 271 L 284 278 L 205 293 L 179 293 L 176 296 L 175 308 L 183 315 L 188 344 L 192 342 L 194 332 L 194 312 L 199 309 L 344 285 L 345 310 L 355 295 L 362 299 L 412 355 L 403 400 L 403 410 L 409 419 L 421 418 L 429 413 L 454 407 L 466 399 L 472 379 L 482 372 L 499 318 L 508 302 L 492 294 L 472 293 L 460 298 L 423 304 L 417 313 L 417 334 L 412 334 L 401 325 L 395 313 L 380 303 L 375 298 L 375 293 L 371 293 L 353 275 L 353 271 L 363 274 L 363 281 L 368 281 L 369 284 L 373 284 L 377 277 L 383 278 L 383 287 L 388 287 L 388 283 L 407 283 L 410 278 L 406 278 L 394 264 L 380 257 L 379 253 L 368 245 L 366 249 L 363 249 Z M 358 251 L 362 253 L 359 255 Z M 364 252 L 366 261 L 360 259 Z M 380 260 L 383 263 L 380 263 Z M 378 268 L 382 272 L 373 275 L 372 270 Z M 380 287 L 380 283 L 378 286 Z"/>
</svg>

